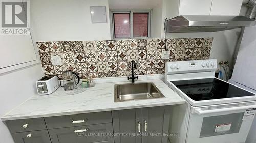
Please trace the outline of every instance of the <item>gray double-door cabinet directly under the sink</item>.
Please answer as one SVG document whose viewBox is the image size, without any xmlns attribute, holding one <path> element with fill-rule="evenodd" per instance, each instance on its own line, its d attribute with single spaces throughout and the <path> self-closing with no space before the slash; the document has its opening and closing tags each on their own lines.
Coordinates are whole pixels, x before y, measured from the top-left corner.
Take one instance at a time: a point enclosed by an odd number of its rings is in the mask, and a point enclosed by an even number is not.
<svg viewBox="0 0 256 143">
<path fill-rule="evenodd" d="M 114 133 L 120 134 L 115 143 L 167 143 L 169 106 L 113 111 L 112 117 Z"/>
</svg>

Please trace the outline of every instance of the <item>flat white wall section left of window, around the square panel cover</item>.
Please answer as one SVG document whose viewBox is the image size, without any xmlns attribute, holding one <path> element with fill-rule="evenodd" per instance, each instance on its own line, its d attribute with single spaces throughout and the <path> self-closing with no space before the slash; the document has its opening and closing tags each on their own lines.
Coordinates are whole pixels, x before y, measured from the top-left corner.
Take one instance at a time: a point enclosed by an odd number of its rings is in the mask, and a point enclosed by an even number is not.
<svg viewBox="0 0 256 143">
<path fill-rule="evenodd" d="M 91 23 L 90 6 L 106 6 L 107 23 Z M 108 0 L 33 0 L 31 23 L 37 41 L 109 40 Z"/>
</svg>

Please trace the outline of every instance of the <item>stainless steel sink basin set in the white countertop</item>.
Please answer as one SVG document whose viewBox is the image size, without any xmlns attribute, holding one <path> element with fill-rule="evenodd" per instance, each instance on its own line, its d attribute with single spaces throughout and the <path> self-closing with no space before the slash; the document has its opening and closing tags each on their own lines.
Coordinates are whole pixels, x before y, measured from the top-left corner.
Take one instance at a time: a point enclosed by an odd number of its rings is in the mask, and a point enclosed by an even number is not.
<svg viewBox="0 0 256 143">
<path fill-rule="evenodd" d="M 164 97 L 152 82 L 116 84 L 114 96 L 115 102 Z"/>
</svg>

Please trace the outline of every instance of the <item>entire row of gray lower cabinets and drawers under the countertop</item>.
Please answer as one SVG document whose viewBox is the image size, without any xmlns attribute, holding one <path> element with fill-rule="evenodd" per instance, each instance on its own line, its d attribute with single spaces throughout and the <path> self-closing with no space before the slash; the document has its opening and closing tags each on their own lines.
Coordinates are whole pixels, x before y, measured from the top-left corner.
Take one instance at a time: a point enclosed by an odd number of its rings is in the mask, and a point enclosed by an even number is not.
<svg viewBox="0 0 256 143">
<path fill-rule="evenodd" d="M 137 108 L 6 123 L 15 143 L 167 143 L 167 135 L 163 134 L 168 133 L 169 108 Z"/>
</svg>

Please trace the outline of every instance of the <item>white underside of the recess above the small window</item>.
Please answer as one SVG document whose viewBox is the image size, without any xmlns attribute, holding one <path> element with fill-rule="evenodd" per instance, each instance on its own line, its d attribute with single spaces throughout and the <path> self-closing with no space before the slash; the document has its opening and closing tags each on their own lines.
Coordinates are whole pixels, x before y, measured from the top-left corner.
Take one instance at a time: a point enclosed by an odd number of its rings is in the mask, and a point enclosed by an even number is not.
<svg viewBox="0 0 256 143">
<path fill-rule="evenodd" d="M 152 9 L 162 0 L 109 0 L 110 9 Z"/>
</svg>

